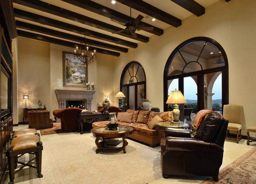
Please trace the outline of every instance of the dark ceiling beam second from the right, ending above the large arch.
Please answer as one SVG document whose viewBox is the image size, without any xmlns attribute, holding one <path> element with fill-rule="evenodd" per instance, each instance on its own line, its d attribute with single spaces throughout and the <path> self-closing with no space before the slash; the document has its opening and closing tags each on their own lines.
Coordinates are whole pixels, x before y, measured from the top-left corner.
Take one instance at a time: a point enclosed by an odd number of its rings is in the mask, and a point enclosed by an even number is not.
<svg viewBox="0 0 256 184">
<path fill-rule="evenodd" d="M 116 0 L 116 1 L 122 4 L 125 4 L 126 6 L 129 6 L 129 7 L 130 7 L 130 1 L 131 1 L 132 8 L 135 10 L 138 10 L 142 13 L 152 16 L 174 27 L 179 27 L 181 25 L 180 19 L 152 6 L 151 4 L 146 3 L 145 1 L 142 1 L 142 0 Z"/>
</svg>

